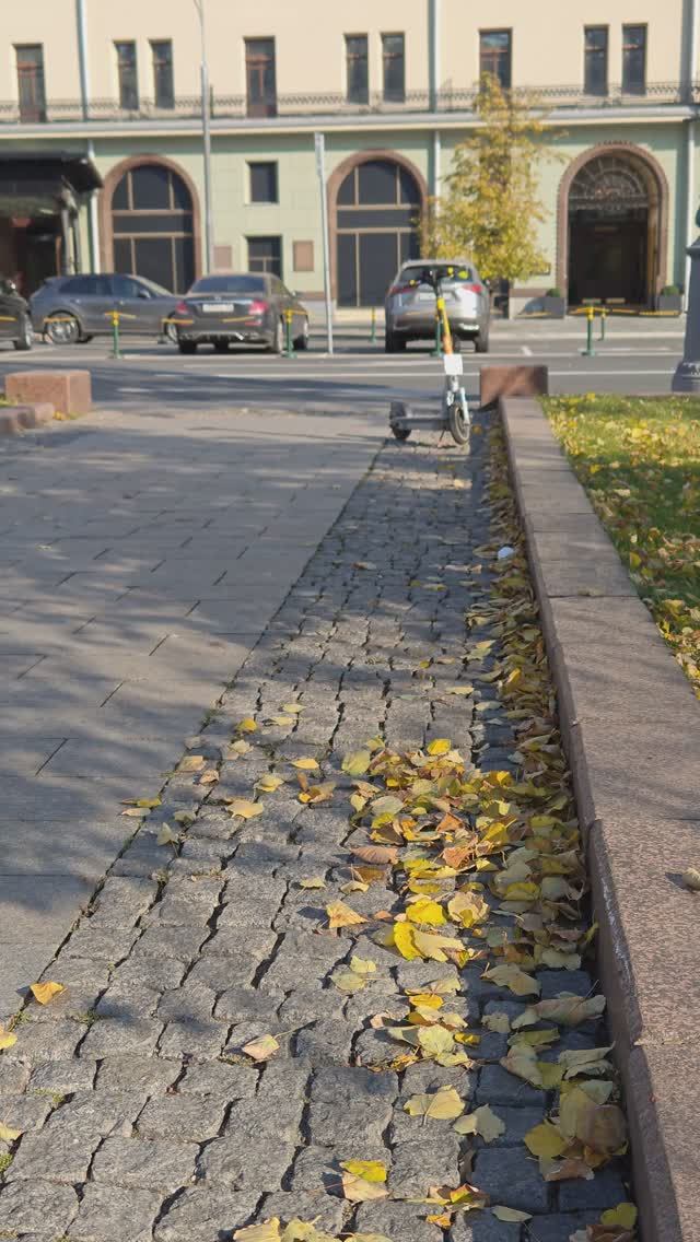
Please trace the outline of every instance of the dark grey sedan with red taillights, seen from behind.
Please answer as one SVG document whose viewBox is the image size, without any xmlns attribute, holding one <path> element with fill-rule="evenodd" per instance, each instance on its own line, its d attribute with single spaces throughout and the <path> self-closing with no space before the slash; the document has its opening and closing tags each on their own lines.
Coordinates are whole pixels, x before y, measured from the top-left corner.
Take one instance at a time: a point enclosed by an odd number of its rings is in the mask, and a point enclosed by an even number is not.
<svg viewBox="0 0 700 1242">
<path fill-rule="evenodd" d="M 281 354 L 287 333 L 295 349 L 308 348 L 308 312 L 277 276 L 218 272 L 195 281 L 178 302 L 173 322 L 180 354 L 209 343 L 225 354 L 231 344 L 265 345 Z"/>
</svg>

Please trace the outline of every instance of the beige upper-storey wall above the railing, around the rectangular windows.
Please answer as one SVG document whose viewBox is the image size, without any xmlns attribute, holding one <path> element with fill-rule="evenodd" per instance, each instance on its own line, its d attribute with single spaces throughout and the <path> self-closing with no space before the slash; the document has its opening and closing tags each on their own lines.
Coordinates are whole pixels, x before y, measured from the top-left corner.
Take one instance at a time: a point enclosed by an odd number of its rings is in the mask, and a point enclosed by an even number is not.
<svg viewBox="0 0 700 1242">
<path fill-rule="evenodd" d="M 205 0 L 208 56 L 215 94 L 245 94 L 245 39 L 275 37 L 280 94 L 336 93 L 346 84 L 344 36 L 369 36 L 369 86 L 382 86 L 382 34 L 405 34 L 407 89 L 429 87 L 429 0 L 269 0 L 260 10 L 237 0 Z M 688 0 L 685 0 L 688 4 Z M 75 0 L 2 5 L 5 55 L 0 99 L 16 98 L 14 45 L 42 42 L 47 93 L 80 94 Z M 441 0 L 440 82 L 469 88 L 479 77 L 480 29 L 511 29 L 515 86 L 576 86 L 583 81 L 584 25 L 609 27 L 609 79 L 622 76 L 623 24 L 648 25 L 648 81 L 683 72 L 684 0 L 492 0 L 487 7 Z M 117 96 L 114 41 L 136 40 L 139 87 L 153 94 L 149 40 L 172 39 L 175 93 L 199 92 L 199 20 L 193 0 L 86 0 L 90 73 L 96 98 Z"/>
</svg>

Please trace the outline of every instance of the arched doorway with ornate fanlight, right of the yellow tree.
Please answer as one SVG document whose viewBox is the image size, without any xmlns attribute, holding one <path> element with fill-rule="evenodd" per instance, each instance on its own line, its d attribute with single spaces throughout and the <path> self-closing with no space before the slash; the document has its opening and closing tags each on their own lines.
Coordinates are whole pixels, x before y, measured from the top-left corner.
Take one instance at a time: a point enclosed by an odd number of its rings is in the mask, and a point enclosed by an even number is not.
<svg viewBox="0 0 700 1242">
<path fill-rule="evenodd" d="M 599 150 L 568 184 L 569 306 L 649 306 L 659 288 L 661 185 L 642 154 Z"/>
</svg>

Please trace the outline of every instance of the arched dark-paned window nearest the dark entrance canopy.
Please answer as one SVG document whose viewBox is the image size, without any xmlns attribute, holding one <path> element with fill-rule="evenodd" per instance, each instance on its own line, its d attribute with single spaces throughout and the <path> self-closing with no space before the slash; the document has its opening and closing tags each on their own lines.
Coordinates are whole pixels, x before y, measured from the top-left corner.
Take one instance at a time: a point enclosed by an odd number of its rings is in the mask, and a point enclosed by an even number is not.
<svg viewBox="0 0 700 1242">
<path fill-rule="evenodd" d="M 157 160 L 133 161 L 109 190 L 113 270 L 185 292 L 196 262 L 195 204 L 184 176 Z"/>
</svg>

